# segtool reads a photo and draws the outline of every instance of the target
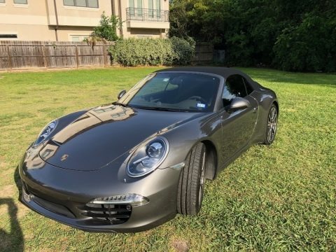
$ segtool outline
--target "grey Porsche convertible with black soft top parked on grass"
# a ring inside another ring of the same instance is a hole
[[[19,165],[22,202],[96,232],[138,232],[197,214],[251,144],[272,144],[276,94],[236,69],[155,71],[118,102],[49,123]]]

